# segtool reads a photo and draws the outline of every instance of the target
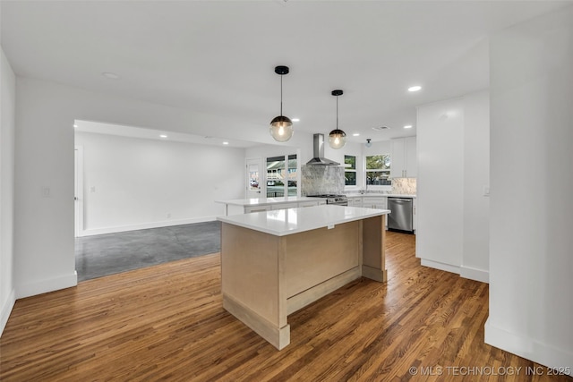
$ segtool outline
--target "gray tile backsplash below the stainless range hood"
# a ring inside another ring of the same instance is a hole
[[[301,167],[301,195],[344,194],[344,167],[312,166]]]

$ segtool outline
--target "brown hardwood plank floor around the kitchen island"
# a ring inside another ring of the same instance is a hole
[[[413,235],[386,237],[388,283],[290,315],[280,352],[223,310],[212,254],[17,301],[0,380],[573,380],[483,344],[488,285],[421,267]]]

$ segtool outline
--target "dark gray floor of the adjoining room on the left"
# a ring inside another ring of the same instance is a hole
[[[215,221],[78,237],[78,281],[218,252],[220,233]]]

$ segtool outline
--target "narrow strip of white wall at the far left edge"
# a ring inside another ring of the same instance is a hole
[[[0,335],[15,301],[13,278],[14,130],[16,77],[0,50]]]

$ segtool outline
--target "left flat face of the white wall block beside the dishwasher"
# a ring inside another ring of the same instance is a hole
[[[417,111],[416,257],[459,273],[464,250],[464,101],[449,99]]]

